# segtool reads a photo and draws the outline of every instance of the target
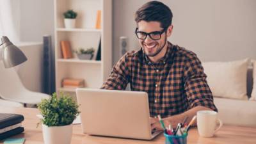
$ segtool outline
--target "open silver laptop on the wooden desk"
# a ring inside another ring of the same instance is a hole
[[[146,92],[76,89],[83,133],[152,140]]]

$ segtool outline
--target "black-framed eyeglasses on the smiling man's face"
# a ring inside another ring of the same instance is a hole
[[[140,40],[145,40],[149,36],[152,40],[160,40],[161,35],[166,31],[167,28],[164,28],[162,31],[153,31],[151,33],[145,33],[144,31],[138,31],[138,28],[135,29],[135,34]]]

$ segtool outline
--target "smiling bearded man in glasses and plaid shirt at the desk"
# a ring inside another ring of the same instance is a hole
[[[136,36],[141,49],[127,52],[116,63],[102,88],[148,93],[152,129],[164,124],[175,127],[200,110],[217,111],[204,69],[196,54],[167,41],[172,34],[172,11],[158,1],[144,4],[136,12]]]

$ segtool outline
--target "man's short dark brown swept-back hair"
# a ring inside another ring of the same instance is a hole
[[[159,1],[150,1],[145,3],[135,13],[135,21],[140,22],[157,21],[160,22],[161,28],[168,28],[172,24],[172,11],[168,6]]]

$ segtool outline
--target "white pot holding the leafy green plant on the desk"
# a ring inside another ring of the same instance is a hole
[[[70,144],[72,138],[72,124],[48,127],[42,124],[45,144]]]

